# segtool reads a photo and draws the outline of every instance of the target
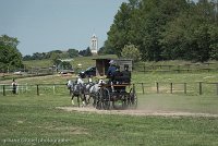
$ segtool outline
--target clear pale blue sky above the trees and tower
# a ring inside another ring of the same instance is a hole
[[[128,0],[0,0],[0,35],[16,37],[23,56],[84,50],[94,34],[100,48],[122,2]]]

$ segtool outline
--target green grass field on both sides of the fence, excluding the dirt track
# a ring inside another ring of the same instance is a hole
[[[197,83],[217,82],[216,73],[192,74],[133,74],[133,82]],[[72,76],[20,78],[19,84],[64,84]],[[3,81],[2,84],[10,84]],[[137,86],[140,90],[141,86]],[[35,86],[34,86],[35,88]],[[197,88],[197,86],[195,86]],[[208,86],[206,89],[211,90]],[[52,88],[2,96],[0,94],[0,145],[63,145],[63,146],[217,146],[218,96],[216,94],[155,94],[138,96],[138,110],[148,113],[207,113],[196,115],[130,115],[95,112],[64,111],[57,107],[71,107],[65,87],[57,94]],[[145,89],[152,89],[146,87]],[[194,90],[194,86],[191,87]],[[206,90],[204,90],[206,92]],[[210,114],[213,114],[210,117]],[[214,117],[215,115],[215,117]]]

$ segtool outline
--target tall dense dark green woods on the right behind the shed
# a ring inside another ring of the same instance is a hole
[[[215,0],[129,0],[114,16],[101,52],[135,46],[143,61],[218,60]]]

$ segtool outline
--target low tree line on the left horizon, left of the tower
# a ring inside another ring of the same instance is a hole
[[[85,50],[68,49],[66,51],[62,50],[52,50],[49,52],[35,52],[33,56],[24,56],[16,48],[19,45],[19,39],[15,37],[10,37],[8,35],[0,36],[0,72],[11,72],[16,70],[23,70],[23,61],[27,60],[43,60],[50,59],[51,63],[56,68],[60,69],[72,69],[70,62],[61,61],[61,59],[75,58],[78,56],[88,57],[93,56],[89,47]]]

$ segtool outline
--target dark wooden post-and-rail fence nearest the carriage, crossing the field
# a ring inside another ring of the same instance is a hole
[[[133,83],[136,93],[141,94],[183,94],[183,95],[218,95],[218,83]],[[69,93],[65,84],[23,84],[19,85],[17,94],[47,95]],[[11,85],[0,85],[0,96],[12,94]]]

